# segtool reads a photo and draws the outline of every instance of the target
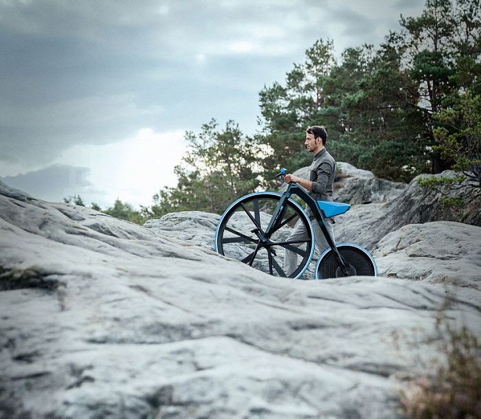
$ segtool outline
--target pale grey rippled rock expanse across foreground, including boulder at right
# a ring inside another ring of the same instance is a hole
[[[0,417],[396,418],[447,294],[481,335],[481,227],[379,240],[396,278],[294,281],[214,253],[212,214],[140,227],[2,183],[0,214]]]

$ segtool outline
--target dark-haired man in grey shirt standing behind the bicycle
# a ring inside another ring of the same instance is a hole
[[[306,141],[304,144],[306,148],[313,153],[314,159],[311,164],[309,172],[309,180],[302,179],[300,177],[294,176],[293,174],[286,174],[284,181],[287,183],[294,182],[301,185],[303,188],[308,190],[315,199],[315,201],[333,201],[333,183],[335,177],[336,163],[333,157],[326,150],[327,141],[327,131],[324,126],[310,126],[306,129]],[[309,217],[313,217],[311,208],[306,207],[307,214]],[[314,233],[315,233],[315,243],[319,251],[324,251],[329,245],[322,234],[321,227],[319,223],[314,221],[313,223]],[[334,238],[333,234],[333,220],[326,219],[326,228],[328,229],[331,237]],[[302,240],[306,238],[306,229],[304,225],[299,224],[295,227],[290,240]],[[284,256],[284,272],[287,276],[291,275],[295,268],[297,267],[297,253],[287,250]]]

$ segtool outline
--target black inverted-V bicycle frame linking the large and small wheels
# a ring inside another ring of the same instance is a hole
[[[271,221],[269,222],[269,225],[267,226],[267,229],[265,230],[265,237],[270,238],[271,234],[273,231],[275,231],[275,228],[278,224],[278,220],[282,220],[284,217],[284,213],[286,211],[286,201],[291,197],[292,194],[295,194],[300,197],[309,207],[311,208],[311,211],[313,213],[313,216],[317,223],[319,224],[319,227],[321,228],[322,234],[324,234],[324,237],[326,238],[326,241],[333,249],[335,253],[335,258],[337,260],[337,263],[339,263],[339,267],[344,271],[344,273],[347,275],[348,273],[348,264],[344,261],[344,258],[342,258],[341,254],[337,250],[337,247],[335,245],[334,239],[332,238],[331,234],[329,233],[329,230],[326,227],[326,221],[324,216],[322,215],[322,212],[320,212],[319,207],[317,206],[317,202],[313,197],[307,192],[302,186],[297,185],[296,183],[289,183],[287,186],[287,189],[285,192],[282,194],[276,210],[273,212],[274,216],[271,218]]]

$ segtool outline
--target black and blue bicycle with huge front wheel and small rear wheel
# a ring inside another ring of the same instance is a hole
[[[276,177],[284,181],[286,173],[287,170],[282,168]],[[312,218],[320,225],[329,245],[317,261],[316,280],[351,275],[377,276],[376,262],[366,249],[347,242],[336,245],[326,228],[327,218],[344,214],[350,205],[315,201],[306,189],[296,183],[288,183],[282,194],[254,192],[234,201],[217,225],[215,251],[273,276],[300,278],[313,259],[315,234],[311,218],[301,205],[291,199],[293,194],[309,205]],[[307,236],[303,240],[289,240],[297,223],[304,224]],[[298,264],[290,275],[283,269],[285,249],[298,255]]]

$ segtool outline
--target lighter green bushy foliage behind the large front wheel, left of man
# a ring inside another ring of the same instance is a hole
[[[186,140],[189,150],[175,168],[177,187],[154,195],[153,216],[189,210],[221,214],[236,198],[256,190],[260,147],[233,121],[219,131],[211,120],[200,133],[186,133]]]

